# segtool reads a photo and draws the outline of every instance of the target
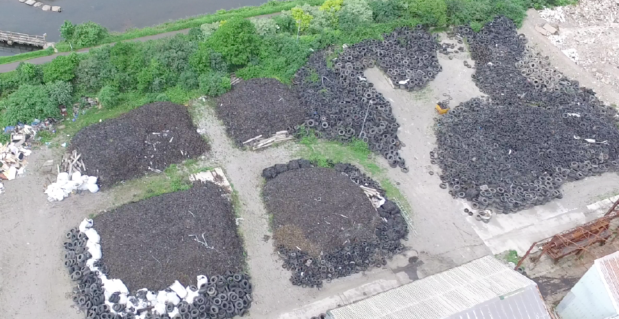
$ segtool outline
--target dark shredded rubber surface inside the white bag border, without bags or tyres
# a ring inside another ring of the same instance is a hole
[[[212,183],[120,206],[95,217],[94,229],[109,278],[121,279],[130,292],[243,270],[229,195]]]

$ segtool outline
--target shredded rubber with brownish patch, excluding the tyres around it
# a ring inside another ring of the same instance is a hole
[[[380,216],[362,189],[332,168],[298,168],[268,179],[265,205],[276,245],[314,256],[374,238]]]

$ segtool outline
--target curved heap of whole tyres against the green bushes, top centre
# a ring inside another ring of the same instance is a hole
[[[304,131],[318,137],[349,142],[363,140],[371,151],[380,153],[391,167],[407,171],[398,150],[402,143],[400,124],[389,101],[373,88],[363,72],[375,65],[391,82],[409,91],[420,89],[442,70],[436,57],[437,41],[422,29],[396,28],[384,34],[384,41],[369,39],[347,47],[327,67],[325,52],[310,56],[293,80],[305,110]]]

